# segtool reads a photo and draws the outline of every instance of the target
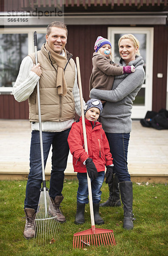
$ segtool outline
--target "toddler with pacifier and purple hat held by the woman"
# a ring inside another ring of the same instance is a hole
[[[95,52],[92,58],[92,74],[90,76],[90,90],[92,88],[111,90],[114,76],[133,73],[134,66],[119,66],[112,61],[112,45],[106,38],[98,36],[95,41]]]

